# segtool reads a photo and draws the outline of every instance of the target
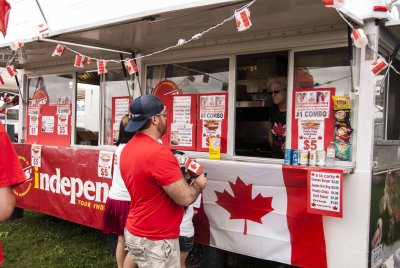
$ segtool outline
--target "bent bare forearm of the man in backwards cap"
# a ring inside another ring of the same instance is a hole
[[[202,173],[192,183],[188,185],[182,178],[174,183],[163,186],[167,194],[180,206],[187,207],[192,204],[206,187],[207,178]]]

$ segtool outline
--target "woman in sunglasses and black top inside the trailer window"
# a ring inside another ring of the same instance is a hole
[[[268,79],[267,87],[272,95],[273,105],[269,109],[270,132],[269,144],[272,148],[272,158],[284,158],[286,142],[286,77]]]

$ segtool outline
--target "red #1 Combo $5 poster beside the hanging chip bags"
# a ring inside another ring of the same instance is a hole
[[[293,90],[292,149],[326,150],[334,139],[334,88]]]

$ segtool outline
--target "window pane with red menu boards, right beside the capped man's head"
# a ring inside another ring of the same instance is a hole
[[[208,151],[211,138],[227,151],[229,59],[147,67],[146,89],[167,107],[163,142],[173,149]]]

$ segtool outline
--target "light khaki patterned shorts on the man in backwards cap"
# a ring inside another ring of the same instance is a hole
[[[125,250],[140,268],[180,268],[178,238],[150,240],[125,229]]]

